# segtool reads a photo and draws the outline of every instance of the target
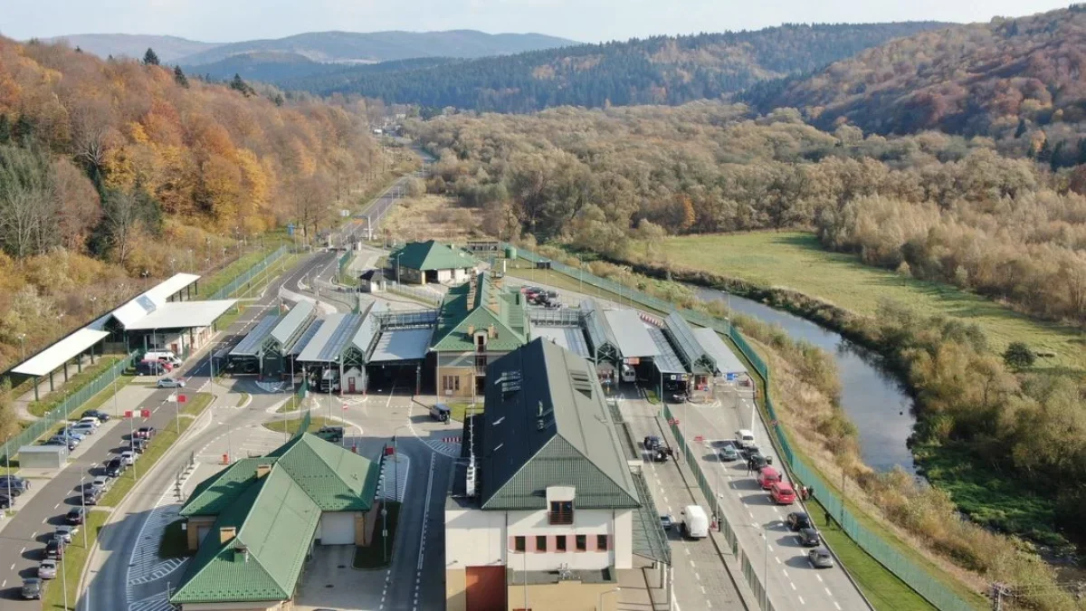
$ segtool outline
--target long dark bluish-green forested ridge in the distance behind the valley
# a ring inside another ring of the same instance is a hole
[[[784,25],[582,45],[396,73],[344,70],[281,84],[321,95],[353,92],[386,102],[497,112],[566,104],[680,104],[811,72],[892,38],[943,26]]]

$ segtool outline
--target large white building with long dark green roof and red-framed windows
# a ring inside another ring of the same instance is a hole
[[[539,338],[487,376],[445,503],[445,608],[614,610],[619,575],[670,552],[595,366]]]

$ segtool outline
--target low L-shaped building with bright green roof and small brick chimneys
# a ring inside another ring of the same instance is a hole
[[[369,545],[378,465],[304,433],[201,482],[180,509],[195,556],[182,610],[289,608],[315,543]]]

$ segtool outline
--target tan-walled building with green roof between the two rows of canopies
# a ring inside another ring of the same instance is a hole
[[[482,395],[487,365],[527,344],[529,324],[525,296],[500,275],[482,272],[449,289],[430,345],[438,394]]]

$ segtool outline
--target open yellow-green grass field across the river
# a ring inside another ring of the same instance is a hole
[[[817,237],[800,232],[682,236],[665,242],[668,262],[690,269],[788,287],[860,314],[874,314],[882,299],[908,304],[922,314],[946,314],[978,324],[1000,351],[1011,341],[1051,351],[1039,366],[1086,370],[1086,335],[1035,321],[994,301],[952,286],[917,280],[860,263],[850,254],[828,252]]]

